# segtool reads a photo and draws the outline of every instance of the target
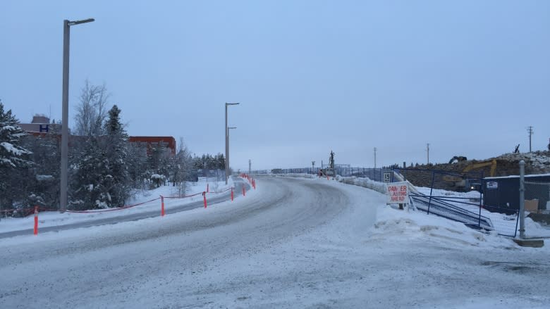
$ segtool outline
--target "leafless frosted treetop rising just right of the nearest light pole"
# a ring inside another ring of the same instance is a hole
[[[80,103],[75,116],[75,134],[97,137],[107,116],[109,93],[105,84],[95,86],[86,80],[80,93]]]

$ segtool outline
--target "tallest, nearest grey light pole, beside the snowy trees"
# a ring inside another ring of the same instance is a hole
[[[85,20],[63,20],[63,93],[61,100],[63,111],[61,113],[61,188],[59,196],[59,210],[67,209],[67,183],[68,183],[68,64],[69,64],[69,39],[71,39],[71,26],[83,23],[91,23],[94,18]]]

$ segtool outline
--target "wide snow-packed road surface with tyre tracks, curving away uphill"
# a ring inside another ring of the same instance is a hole
[[[361,187],[257,184],[206,210],[1,239],[0,308],[548,308],[547,249],[395,219]]]

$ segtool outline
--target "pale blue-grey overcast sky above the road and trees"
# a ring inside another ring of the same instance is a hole
[[[550,1],[0,2],[0,99],[22,122],[70,122],[86,79],[128,134],[185,139],[231,166],[484,159],[550,137]]]

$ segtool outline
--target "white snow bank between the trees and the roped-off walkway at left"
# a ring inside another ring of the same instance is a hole
[[[222,192],[228,188],[234,186],[233,179],[228,180],[228,184],[225,184],[225,181],[216,181],[212,178],[201,178],[198,182],[189,182],[189,186],[185,192],[185,196],[190,196],[194,194],[201,193],[207,190],[207,184],[209,192],[214,194],[215,192]],[[139,203],[144,203],[140,206],[135,206],[132,208],[124,208],[121,210],[114,211],[94,211],[90,210],[90,213],[59,213],[57,211],[47,211],[39,213],[39,229],[40,227],[53,227],[59,225],[67,225],[77,222],[86,222],[90,220],[97,220],[110,217],[120,217],[123,215],[128,215],[130,213],[145,213],[151,210],[161,211],[161,201],[151,201],[153,199],[159,198],[160,196],[178,196],[178,187],[173,187],[171,185],[161,186],[152,190],[139,191],[135,194],[133,198],[130,198],[127,205],[135,205]],[[188,198],[165,198],[164,199],[164,208],[169,210],[174,206],[181,206],[194,201],[202,201],[202,195],[192,196]],[[0,233],[1,232],[11,232],[18,231],[23,229],[32,229],[35,224],[34,216],[30,215],[28,217],[3,217],[0,220]]]

